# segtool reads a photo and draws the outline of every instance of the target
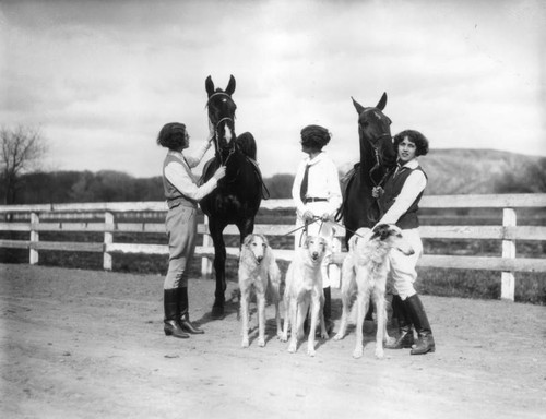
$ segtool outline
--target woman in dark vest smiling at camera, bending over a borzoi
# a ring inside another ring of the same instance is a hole
[[[427,314],[413,284],[417,278],[415,266],[423,254],[419,236],[418,204],[427,185],[427,175],[423,171],[418,156],[428,153],[428,140],[413,130],[402,131],[394,136],[394,146],[399,153],[397,166],[379,191],[380,205],[384,211],[378,224],[395,224],[403,230],[415,253],[406,256],[402,252],[390,253],[390,277],[394,287],[392,297],[393,315],[399,320],[400,336],[390,349],[412,348],[412,355],[435,351],[435,339]],[[378,193],[378,192],[376,192]],[[412,324],[418,340],[414,343]]]

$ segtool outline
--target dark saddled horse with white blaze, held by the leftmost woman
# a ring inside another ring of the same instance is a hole
[[[256,163],[256,141],[246,132],[235,135],[235,110],[232,98],[235,79],[232,75],[225,91],[214,88],[211,76],[205,81],[209,100],[209,121],[215,128],[214,158],[206,163],[203,179],[207,181],[216,169],[226,166],[226,176],[218,187],[203,200],[201,210],[209,217],[209,230],[214,243],[214,271],[216,290],[212,316],[224,315],[226,290],[226,246],[223,231],[229,224],[235,224],[240,234],[240,242],[254,229],[254,216],[262,200],[262,178]]]

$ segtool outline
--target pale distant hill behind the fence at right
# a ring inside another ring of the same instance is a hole
[[[419,157],[429,195],[546,192],[546,157],[442,148]],[[345,172],[353,164],[343,166]]]

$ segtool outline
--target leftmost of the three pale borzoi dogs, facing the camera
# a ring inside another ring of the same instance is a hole
[[[265,298],[275,304],[277,336],[281,336],[281,316],[278,313],[281,272],[263,235],[248,235],[242,242],[239,256],[240,311],[242,318],[241,346],[249,346],[248,322],[249,303],[252,290],[258,307],[258,346],[265,346]]]

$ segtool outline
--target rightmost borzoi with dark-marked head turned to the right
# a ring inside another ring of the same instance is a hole
[[[402,230],[394,225],[382,224],[373,230],[359,228],[348,242],[349,251],[342,267],[343,312],[340,331],[334,340],[343,339],[347,328],[351,302],[357,295],[356,346],[354,358],[363,356],[363,325],[368,311],[370,296],[376,304],[377,335],[376,357],[383,358],[383,342],[390,342],[387,333],[385,287],[389,271],[389,252],[401,251],[413,254],[412,246],[402,237]]]

